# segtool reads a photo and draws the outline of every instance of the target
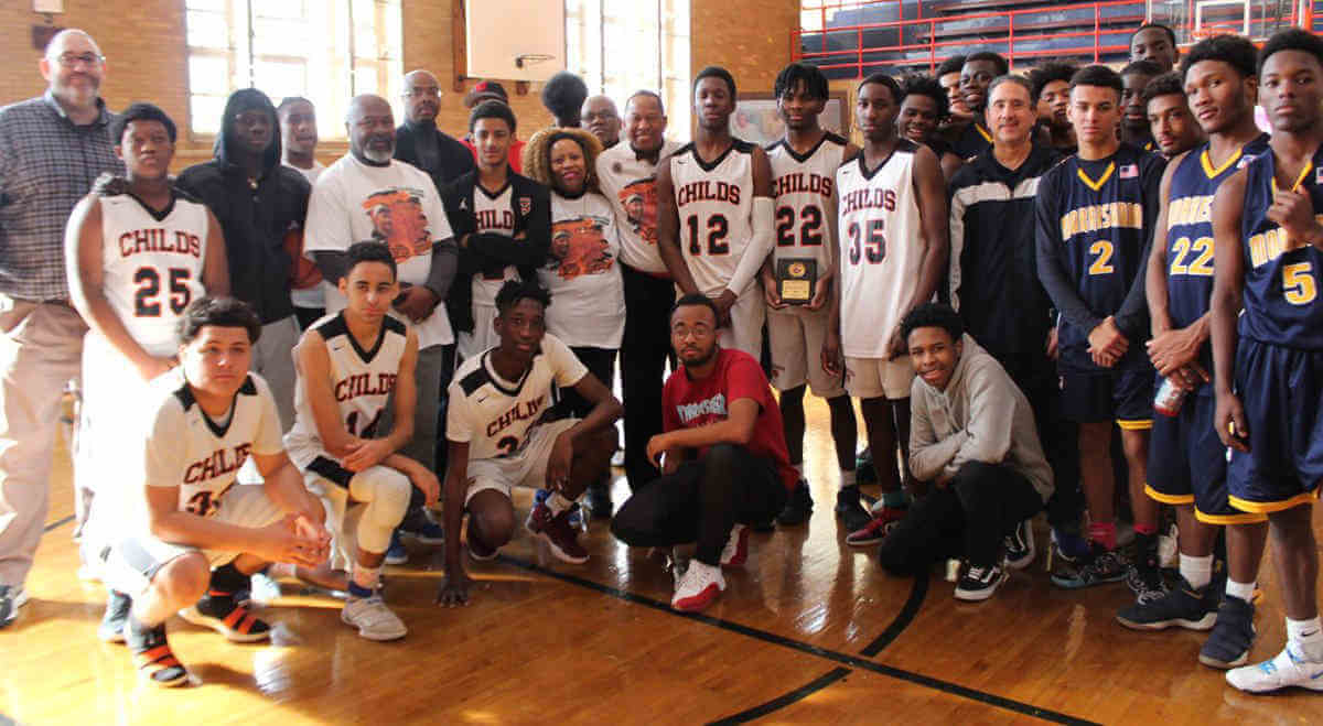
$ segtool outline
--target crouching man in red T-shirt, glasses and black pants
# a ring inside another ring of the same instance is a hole
[[[648,440],[662,477],[635,491],[611,522],[631,546],[697,542],[671,598],[684,611],[717,599],[726,588],[721,566],[744,565],[746,525],[775,517],[799,481],[762,368],[747,353],[717,345],[717,305],[705,295],[675,303],[671,345],[681,368],[662,390],[663,432]]]

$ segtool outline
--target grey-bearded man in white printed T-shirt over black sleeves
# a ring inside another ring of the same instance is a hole
[[[345,116],[349,153],[332,164],[312,192],[308,204],[307,251],[325,278],[327,312],[340,312],[345,296],[339,288],[344,276],[344,253],[355,242],[374,238],[390,247],[398,266],[401,294],[393,312],[406,317],[418,335],[418,383],[413,439],[400,450],[429,471],[435,471],[437,418],[442,374],[450,369],[455,336],[442,302],[455,278],[454,233],[441,194],[431,177],[410,164],[392,159],[394,118],[390,104],[377,95],[356,97]],[[378,221],[389,216],[389,225]],[[335,286],[335,287],[332,287]],[[386,407],[380,430],[389,431],[394,406]],[[415,496],[404,529],[421,544],[439,545],[441,528],[421,512]],[[386,553],[386,563],[400,565],[407,553],[398,540]]]

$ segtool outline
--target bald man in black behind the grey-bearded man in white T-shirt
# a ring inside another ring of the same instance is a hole
[[[426,70],[405,74],[405,123],[396,130],[396,159],[431,176],[437,189],[478,168],[464,144],[437,128],[441,83]]]

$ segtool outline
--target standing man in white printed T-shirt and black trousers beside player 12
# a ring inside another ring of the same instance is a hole
[[[680,148],[668,141],[662,97],[638,91],[624,102],[624,140],[597,157],[602,193],[624,222],[620,275],[624,279],[624,337],[620,340],[620,393],[624,395],[624,477],[638,491],[658,477],[648,462],[648,439],[662,432],[662,387],[671,339],[667,316],[675,283],[658,251],[658,165]],[[589,491],[590,500],[601,493]],[[593,510],[598,504],[593,504]]]

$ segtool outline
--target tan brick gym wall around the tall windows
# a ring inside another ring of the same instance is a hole
[[[451,54],[452,0],[409,0],[404,7],[404,67],[423,67],[439,79],[445,97],[438,123],[462,134],[468,112],[463,91],[452,89],[455,63]],[[40,50],[32,48],[33,25],[45,17],[32,12],[26,0],[0,3],[0,104],[38,95],[45,81],[37,69]],[[185,73],[183,0],[65,0],[65,12],[53,16],[56,25],[82,28],[107,57],[102,95],[112,108],[134,101],[163,107],[184,131],[176,167],[210,156],[210,143],[187,134],[188,78]],[[691,63],[697,70],[709,63],[726,66],[741,89],[770,91],[777,71],[790,60],[790,32],[798,25],[798,0],[692,0]],[[757,20],[754,20],[754,17]],[[519,136],[552,123],[532,85],[517,95],[515,83],[504,83],[519,118]],[[466,83],[466,89],[472,82]],[[321,119],[323,127],[337,123]],[[324,161],[344,152],[343,144],[319,148]]]

